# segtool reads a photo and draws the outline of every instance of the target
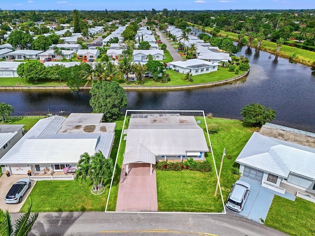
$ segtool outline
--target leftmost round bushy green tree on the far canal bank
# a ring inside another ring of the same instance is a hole
[[[16,72],[28,82],[37,82],[39,79],[46,78],[46,67],[39,60],[30,60],[19,64]]]

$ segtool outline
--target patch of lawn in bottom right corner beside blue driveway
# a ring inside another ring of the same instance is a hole
[[[275,196],[265,225],[291,236],[310,236],[315,232],[315,204],[301,198],[295,202]]]

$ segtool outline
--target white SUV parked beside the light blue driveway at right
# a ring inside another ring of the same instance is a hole
[[[232,187],[226,200],[226,207],[231,210],[241,212],[244,208],[248,195],[251,191],[251,185],[245,181],[237,180]]]

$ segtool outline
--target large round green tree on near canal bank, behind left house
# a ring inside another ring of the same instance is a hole
[[[90,90],[90,106],[95,113],[104,113],[106,121],[111,122],[122,115],[121,109],[128,104],[126,92],[118,82],[96,82]]]

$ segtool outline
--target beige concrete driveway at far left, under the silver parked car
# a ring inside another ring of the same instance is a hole
[[[20,212],[21,207],[25,203],[25,200],[28,198],[34,184],[36,183],[35,181],[31,181],[32,187],[28,189],[24,194],[22,203],[6,204],[4,202],[4,198],[8,191],[10,190],[13,183],[15,183],[20,178],[27,177],[28,175],[11,175],[10,177],[7,177],[5,174],[3,174],[0,177],[0,209],[2,209],[3,211],[8,210],[9,212]]]

